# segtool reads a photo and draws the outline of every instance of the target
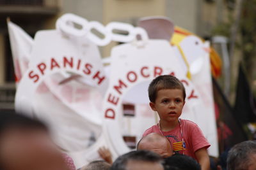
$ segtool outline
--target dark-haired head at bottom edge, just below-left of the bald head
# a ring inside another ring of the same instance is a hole
[[[163,170],[162,159],[159,155],[148,150],[138,150],[125,153],[118,157],[111,170]]]

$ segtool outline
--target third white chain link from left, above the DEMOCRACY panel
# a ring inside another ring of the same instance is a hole
[[[106,29],[109,32],[111,32],[111,37],[113,41],[127,43],[132,41],[132,39],[134,39],[134,34],[133,34],[134,27],[130,24],[125,24],[122,22],[110,22],[106,26]],[[127,31],[128,35],[115,34],[113,33],[114,30]]]

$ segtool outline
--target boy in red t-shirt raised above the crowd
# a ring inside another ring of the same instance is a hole
[[[180,119],[185,104],[186,92],[183,84],[174,76],[163,75],[155,78],[148,87],[150,107],[157,111],[160,121],[147,129],[143,136],[152,132],[169,139],[176,153],[193,157],[202,170],[210,167],[207,148],[209,143],[195,123]]]

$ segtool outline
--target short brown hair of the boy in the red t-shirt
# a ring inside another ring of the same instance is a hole
[[[156,101],[157,92],[162,89],[180,89],[183,92],[183,99],[185,101],[186,91],[182,82],[172,75],[157,76],[151,81],[148,86],[148,97],[150,102]]]

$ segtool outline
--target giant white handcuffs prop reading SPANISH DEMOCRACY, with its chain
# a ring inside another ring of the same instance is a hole
[[[126,31],[127,35],[114,31]],[[105,72],[97,45],[110,41],[124,44],[113,48],[109,72]],[[73,14],[60,17],[56,30],[38,31],[32,47],[29,67],[17,88],[15,109],[47,122],[56,143],[77,167],[99,159],[100,146],[107,146],[114,158],[128,152],[145,129],[159,121],[148,106],[147,87],[161,74],[174,74],[182,80],[187,93],[182,118],[201,127],[214,148],[210,155],[218,155],[215,119],[209,115],[211,108],[207,110],[212,101],[204,106],[205,94],[198,89],[206,82],[200,67],[204,67],[203,74],[210,75],[209,64],[205,66],[209,55],[193,59],[190,71],[202,78],[191,81],[186,78],[184,60],[168,41],[148,39],[141,27],[120,22],[104,26]],[[20,48],[13,48],[19,52]],[[189,63],[191,60],[189,57]]]

